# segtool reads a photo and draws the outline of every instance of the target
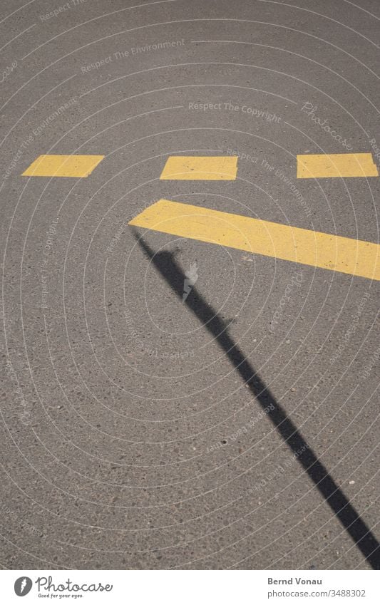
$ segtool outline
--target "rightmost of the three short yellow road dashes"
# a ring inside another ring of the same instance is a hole
[[[371,153],[297,155],[297,179],[378,176]]]

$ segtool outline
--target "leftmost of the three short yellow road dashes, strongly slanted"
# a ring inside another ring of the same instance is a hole
[[[76,177],[91,175],[104,155],[40,155],[23,177]]]

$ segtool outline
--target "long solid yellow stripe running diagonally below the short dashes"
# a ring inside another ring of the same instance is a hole
[[[380,245],[238,214],[160,200],[131,225],[252,254],[380,280]]]

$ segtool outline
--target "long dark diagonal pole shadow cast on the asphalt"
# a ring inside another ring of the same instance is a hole
[[[158,252],[155,254],[135,229],[133,227],[131,229],[146,256],[153,262],[155,268],[158,269],[158,272],[168,282],[175,294],[182,299],[185,274],[177,262],[175,262],[173,254],[171,252]],[[302,433],[297,430],[281,405],[277,403],[274,395],[269,391],[262,378],[255,372],[250,362],[247,361],[240,348],[235,345],[227,333],[225,323],[194,288],[186,299],[185,304],[202,321],[202,324],[204,324],[212,336],[214,336],[220,348],[225,351],[227,358],[229,358],[236,371],[240,373],[240,376],[247,386],[249,386],[250,391],[255,395],[262,408],[268,409],[269,407],[267,417],[270,418],[274,427],[294,455],[297,455],[297,460],[304,467],[310,479],[314,482],[334,514],[337,515],[344,529],[346,529],[356,546],[364,554],[371,567],[373,569],[380,569],[380,545],[374,534],[372,534],[369,527],[359,517],[359,514],[344,495],[344,492],[342,492],[331,475],[329,475],[329,472],[327,472],[326,467],[318,460],[313,450],[309,448]]]

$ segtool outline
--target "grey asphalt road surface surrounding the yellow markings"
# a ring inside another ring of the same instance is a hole
[[[379,178],[297,180],[297,154],[380,145],[379,9],[3,0],[3,569],[379,566],[379,282],[128,226],[166,198],[378,242]],[[106,157],[21,176],[49,153]],[[175,154],[237,180],[160,181]]]

